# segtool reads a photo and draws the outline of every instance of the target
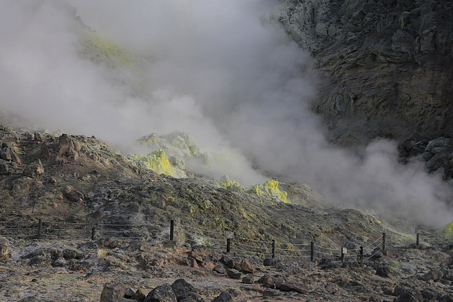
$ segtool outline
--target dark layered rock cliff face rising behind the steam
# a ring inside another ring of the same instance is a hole
[[[325,79],[332,142],[453,133],[453,1],[287,0],[279,21]]]

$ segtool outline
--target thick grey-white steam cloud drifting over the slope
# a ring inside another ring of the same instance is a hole
[[[372,142],[363,158],[328,144],[310,110],[314,64],[270,22],[276,3],[2,0],[0,110],[123,151],[142,135],[183,130],[220,158],[212,176],[262,182],[254,163],[351,206],[450,222],[450,189],[422,163],[400,165],[394,142]],[[75,15],[140,63],[88,59]]]

